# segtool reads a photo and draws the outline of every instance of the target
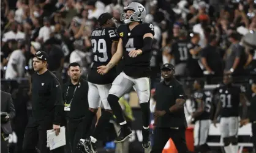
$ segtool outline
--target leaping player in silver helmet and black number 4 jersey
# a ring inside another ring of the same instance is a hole
[[[116,63],[123,57],[124,69],[114,80],[108,102],[115,114],[118,123],[121,125],[121,132],[115,143],[121,143],[132,135],[122,115],[122,109],[118,103],[119,98],[134,86],[138,94],[141,112],[143,115],[143,148],[149,148],[149,99],[150,99],[150,59],[151,47],[154,37],[154,26],[150,23],[143,23],[146,10],[138,2],[131,2],[124,7],[121,20],[125,24],[118,27],[119,43],[116,53],[106,66],[99,66],[98,73],[107,74]]]

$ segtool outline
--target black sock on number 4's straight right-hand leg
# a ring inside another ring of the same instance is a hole
[[[142,112],[142,125],[144,127],[149,126],[150,122],[150,108],[149,108],[149,102],[143,102],[140,104],[140,109]]]

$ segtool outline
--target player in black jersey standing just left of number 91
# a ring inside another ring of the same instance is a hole
[[[194,95],[192,96],[192,119],[195,121],[194,146],[195,152],[209,152],[210,148],[206,143],[208,131],[211,124],[211,96],[206,96],[203,87],[203,80],[195,80]]]

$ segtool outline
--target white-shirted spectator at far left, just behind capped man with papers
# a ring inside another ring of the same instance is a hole
[[[24,69],[26,65],[26,52],[23,40],[18,42],[18,49],[10,54],[9,62],[6,68],[6,79],[18,79],[24,77]]]

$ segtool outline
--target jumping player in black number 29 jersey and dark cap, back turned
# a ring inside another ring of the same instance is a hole
[[[116,52],[118,44],[118,34],[116,33],[116,20],[110,13],[103,13],[99,16],[100,28],[92,31],[91,44],[94,54],[94,61],[91,67],[91,71],[88,74],[88,104],[89,110],[86,115],[85,121],[85,135],[83,139],[78,143],[80,151],[94,153],[96,152],[96,141],[99,138],[99,134],[104,130],[104,126],[111,118],[112,111],[108,104],[108,91],[111,88],[111,83],[116,77],[115,69],[111,69],[106,75],[102,76],[97,73],[97,67],[100,65],[107,65],[113,54]],[[97,109],[100,107],[100,101],[104,105],[105,111],[102,112],[97,126],[91,135],[91,139],[88,140],[86,135],[91,127],[92,120],[96,116]],[[88,149],[89,147],[89,149]]]

